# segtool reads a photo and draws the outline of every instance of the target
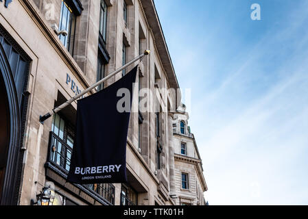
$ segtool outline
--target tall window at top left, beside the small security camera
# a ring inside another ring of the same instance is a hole
[[[60,14],[60,24],[59,24],[59,31],[66,30],[68,35],[63,36],[60,34],[59,38],[64,45],[65,48],[73,55],[73,47],[74,47],[74,40],[75,40],[75,23],[76,17],[73,14],[73,11],[65,1],[62,1],[61,5],[61,14]]]

